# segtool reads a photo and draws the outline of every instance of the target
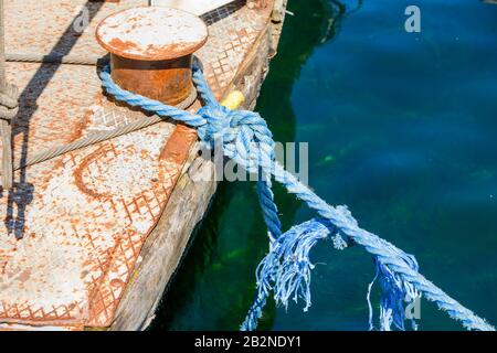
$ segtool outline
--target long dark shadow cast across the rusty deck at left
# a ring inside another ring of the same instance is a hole
[[[103,2],[92,2],[87,1],[85,3],[86,9],[88,9],[89,21],[96,15],[96,13],[102,8]],[[52,47],[50,53],[46,55],[52,56],[64,56],[67,55],[73,46],[76,44],[80,34],[74,30],[74,23],[80,21],[82,13],[78,13],[73,22],[67,26],[62,36],[59,39],[57,43]],[[43,21],[43,19],[40,19]],[[77,22],[80,24],[80,22]],[[25,164],[28,159],[28,146],[29,146],[29,135],[30,135],[30,121],[31,118],[38,109],[36,100],[45,89],[46,85],[55,75],[56,71],[61,66],[60,63],[43,63],[40,68],[33,75],[29,84],[25,86],[20,96],[20,109],[18,117],[15,117],[12,136],[22,135],[21,141],[21,165]],[[20,171],[19,180],[13,181],[13,188],[9,191],[7,201],[7,215],[4,223],[9,234],[14,234],[14,236],[20,239],[24,236],[24,223],[25,223],[25,208],[33,201],[34,186],[28,182],[28,175],[25,168]],[[17,206],[17,214],[14,211]]]

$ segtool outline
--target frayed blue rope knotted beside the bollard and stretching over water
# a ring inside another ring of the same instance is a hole
[[[204,103],[197,114],[121,89],[113,82],[109,67],[102,71],[101,78],[105,90],[115,99],[197,128],[202,143],[210,148],[221,143],[223,153],[228,158],[233,159],[246,171],[263,176],[257,182],[257,193],[264,221],[267,224],[271,246],[269,253],[257,267],[257,292],[241,327],[242,330],[256,329],[272,291],[278,304],[286,307],[290,299],[294,301],[303,299],[306,302],[304,310],[310,307],[309,285],[314,265],[309,260],[309,252],[318,240],[329,238],[336,248],[341,249],[347,244],[355,243],[373,255],[377,267],[374,280],[380,281],[382,289],[379,320],[381,330],[390,330],[392,324],[403,330],[404,304],[412,303],[424,296],[435,302],[441,310],[446,311],[451,318],[461,321],[466,329],[495,331],[493,325],[424,278],[419,272],[417,263],[412,255],[402,252],[376,234],[360,228],[346,206],[329,205],[278,164],[274,156],[273,136],[266,121],[256,113],[229,110],[221,106],[197,65],[193,67],[192,79]],[[282,234],[272,191],[272,178],[315,210],[319,218],[294,226]],[[369,304],[374,280],[368,290]],[[371,304],[370,308],[370,328],[373,329]],[[415,327],[415,323],[413,324]]]

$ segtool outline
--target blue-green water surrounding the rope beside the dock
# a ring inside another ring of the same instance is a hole
[[[421,9],[422,32],[404,31]],[[309,182],[497,323],[497,6],[477,0],[290,0],[257,110],[309,142]],[[276,188],[286,227],[311,213]],[[254,184],[222,183],[152,330],[236,330],[267,250]],[[313,307],[269,302],[261,329],[367,330],[371,257],[313,250]],[[378,291],[374,303],[378,304]],[[426,301],[421,329],[461,327]]]

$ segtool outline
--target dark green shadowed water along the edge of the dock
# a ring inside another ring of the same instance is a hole
[[[278,54],[271,64],[257,108],[275,139],[294,141],[296,118],[290,94],[314,49],[334,38],[346,13],[338,1],[290,1]],[[283,227],[300,203],[276,185]],[[195,232],[177,276],[162,297],[150,330],[237,330],[255,293],[255,268],[267,252],[267,236],[253,183],[223,182]],[[271,329],[269,301],[260,329]]]

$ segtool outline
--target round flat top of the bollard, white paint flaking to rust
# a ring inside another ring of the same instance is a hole
[[[98,25],[96,38],[112,54],[162,61],[195,52],[205,43],[208,29],[201,19],[186,11],[140,7],[106,18]]]

